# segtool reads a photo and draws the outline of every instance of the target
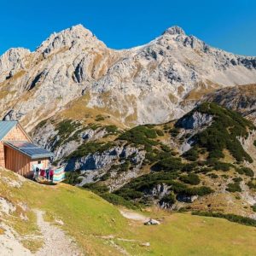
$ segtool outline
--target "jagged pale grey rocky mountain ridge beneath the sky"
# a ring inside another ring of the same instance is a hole
[[[149,44],[109,49],[83,26],[52,34],[34,52],[0,57],[2,118],[26,129],[86,96],[126,125],[161,123],[224,85],[256,80],[256,58],[214,49],[173,26]]]

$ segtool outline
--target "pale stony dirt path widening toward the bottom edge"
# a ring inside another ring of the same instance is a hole
[[[36,256],[77,256],[83,255],[75,243],[65,235],[64,231],[44,221],[44,212],[35,211],[38,217],[38,228],[41,230],[44,246]]]

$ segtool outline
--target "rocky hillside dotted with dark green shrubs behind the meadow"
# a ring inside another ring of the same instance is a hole
[[[205,102],[181,119],[125,129],[76,103],[32,134],[55,151],[55,164],[67,163],[67,183],[125,207],[255,217],[256,132],[239,113]]]

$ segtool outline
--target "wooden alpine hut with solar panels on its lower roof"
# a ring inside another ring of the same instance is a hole
[[[33,168],[47,168],[53,155],[35,145],[18,121],[0,121],[0,166],[31,177]]]

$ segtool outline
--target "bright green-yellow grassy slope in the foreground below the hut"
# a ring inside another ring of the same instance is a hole
[[[24,236],[24,245],[37,250],[36,218],[32,209],[45,212],[52,223],[61,219],[62,229],[75,238],[90,255],[253,255],[256,253],[256,229],[230,223],[220,218],[145,212],[159,218],[161,224],[145,226],[129,220],[119,209],[84,189],[59,184],[44,186],[20,179],[13,172],[1,170],[0,193],[16,206],[15,212],[3,214],[1,221]],[[23,207],[19,207],[19,206]],[[26,207],[24,207],[26,206]],[[28,220],[21,220],[20,214]],[[29,236],[28,236],[29,235]],[[143,246],[149,242],[150,246]]]

